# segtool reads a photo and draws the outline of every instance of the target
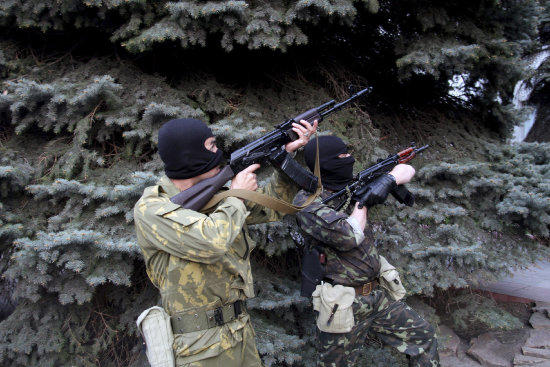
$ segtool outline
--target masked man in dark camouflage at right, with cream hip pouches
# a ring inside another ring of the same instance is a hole
[[[350,210],[336,211],[339,202],[334,201],[339,199],[322,200],[350,183],[355,160],[340,138],[322,136],[318,141],[323,193],[296,214],[306,241],[302,295],[312,295],[318,311],[317,365],[357,365],[368,334],[406,353],[409,366],[439,366],[433,327],[400,300],[405,290],[399,274],[377,254],[367,227],[367,207],[383,203],[396,185],[408,183],[414,168],[397,165],[354,196]],[[311,170],[316,146],[312,140],[304,150]],[[294,204],[304,203],[307,196],[300,191]]]

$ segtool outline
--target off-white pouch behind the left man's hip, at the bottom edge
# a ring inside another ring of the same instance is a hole
[[[136,323],[145,340],[145,354],[151,367],[174,367],[174,334],[170,316],[164,308],[148,308],[139,315]]]

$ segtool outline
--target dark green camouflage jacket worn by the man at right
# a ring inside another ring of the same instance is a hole
[[[303,204],[308,195],[301,190],[294,204]],[[360,230],[354,231],[347,213],[337,212],[322,203],[329,195],[323,191],[311,205],[296,214],[307,245],[319,247],[326,254],[325,278],[346,286],[358,286],[377,278],[380,260],[372,231],[367,227],[363,236],[358,235]]]

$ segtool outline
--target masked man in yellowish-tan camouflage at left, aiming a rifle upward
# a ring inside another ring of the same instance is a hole
[[[294,152],[315,132],[306,121],[294,124]],[[138,244],[147,274],[160,290],[171,316],[177,366],[261,366],[245,301],[254,297],[250,252],[254,242],[246,224],[280,219],[253,203],[228,197],[208,214],[184,209],[170,198],[216,175],[222,152],[210,128],[195,119],[178,119],[159,130],[158,149],[165,175],[145,189],[134,207]],[[253,164],[232,180],[232,189],[256,190]],[[296,190],[274,174],[265,194],[292,200]]]

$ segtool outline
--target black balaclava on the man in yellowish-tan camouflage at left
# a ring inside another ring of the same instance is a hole
[[[221,149],[206,149],[204,142],[214,136],[204,122],[196,119],[170,120],[159,129],[158,150],[169,178],[198,176],[219,165]]]

